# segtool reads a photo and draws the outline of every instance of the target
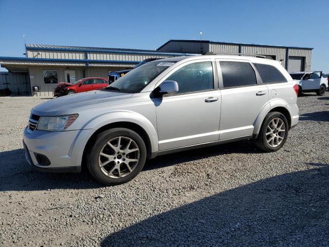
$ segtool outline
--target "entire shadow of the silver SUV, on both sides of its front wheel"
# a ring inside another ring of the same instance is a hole
[[[143,171],[159,169],[184,162],[229,153],[259,153],[249,140],[194,149],[156,157],[147,161]],[[25,161],[24,149],[0,152],[0,191],[30,191],[47,189],[90,189],[104,187],[88,172],[44,173],[33,169]]]

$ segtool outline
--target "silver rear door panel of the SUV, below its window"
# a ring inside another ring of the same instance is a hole
[[[267,86],[222,89],[221,93],[220,139],[252,135],[253,124],[269,99]]]

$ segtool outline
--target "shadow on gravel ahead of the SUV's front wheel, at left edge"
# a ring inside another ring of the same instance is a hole
[[[90,189],[104,187],[87,172],[44,173],[25,161],[24,149],[0,152],[0,191]]]

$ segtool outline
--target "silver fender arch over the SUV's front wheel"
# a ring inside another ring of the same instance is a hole
[[[82,129],[93,129],[97,131],[101,127],[115,122],[132,122],[139,125],[149,135],[152,153],[158,151],[158,135],[155,127],[148,118],[133,111],[113,110],[97,115],[87,121]]]

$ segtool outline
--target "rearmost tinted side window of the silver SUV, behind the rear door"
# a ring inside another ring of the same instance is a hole
[[[287,79],[275,66],[262,63],[254,63],[253,65],[255,65],[256,69],[258,70],[263,83],[287,82]]]

